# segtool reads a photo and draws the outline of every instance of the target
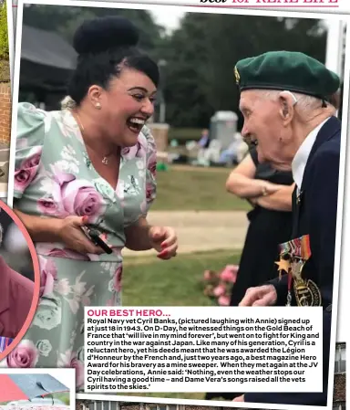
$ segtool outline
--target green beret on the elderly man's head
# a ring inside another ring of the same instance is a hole
[[[244,58],[234,68],[240,90],[281,89],[311,95],[321,100],[339,89],[339,77],[324,64],[303,53],[270,51]]]

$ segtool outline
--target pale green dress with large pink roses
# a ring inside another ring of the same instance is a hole
[[[111,255],[79,254],[63,243],[36,243],[41,283],[36,315],[8,367],[74,367],[84,390],[84,307],[121,303],[124,228],[146,216],[156,195],[156,148],[149,129],[121,150],[113,189],[88,158],[69,110],[18,106],[14,207],[31,216],[88,216]],[[5,362],[5,363],[4,363]]]

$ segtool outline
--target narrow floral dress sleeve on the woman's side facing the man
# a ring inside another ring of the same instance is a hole
[[[148,127],[143,127],[142,133],[147,140],[147,157],[146,157],[146,214],[149,212],[150,205],[156,199],[157,182],[157,148],[154,138]]]

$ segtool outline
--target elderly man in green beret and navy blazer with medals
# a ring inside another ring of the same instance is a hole
[[[243,59],[235,76],[243,138],[257,145],[260,162],[292,169],[295,182],[293,234],[277,262],[282,278],[248,289],[240,306],[322,306],[324,315],[322,393],[247,393],[235,401],[326,405],[341,131],[328,101],[339,79],[314,58],[286,51]]]

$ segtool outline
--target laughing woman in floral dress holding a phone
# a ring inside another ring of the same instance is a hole
[[[77,68],[60,111],[19,104],[16,214],[36,242],[40,301],[10,367],[75,367],[84,388],[84,306],[121,303],[121,249],[176,255],[168,226],[149,226],[156,194],[156,148],[145,122],[153,113],[157,65],[136,47],[138,31],[105,17],[77,29]],[[98,229],[113,252],[94,245]]]

